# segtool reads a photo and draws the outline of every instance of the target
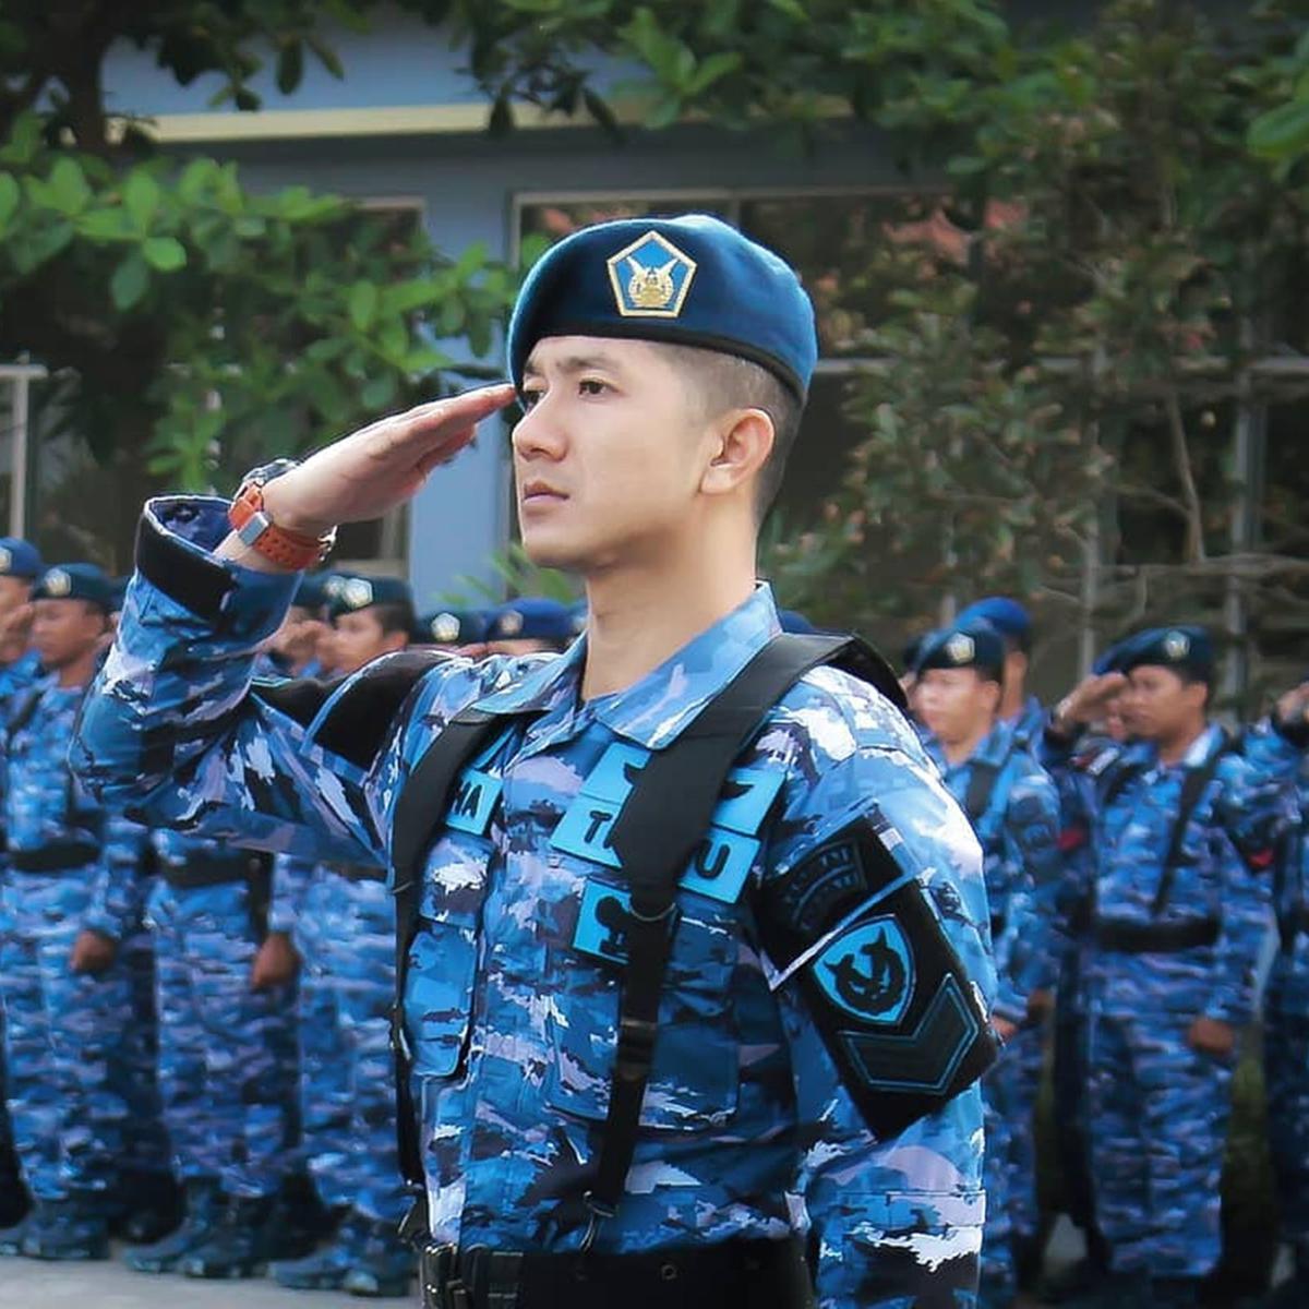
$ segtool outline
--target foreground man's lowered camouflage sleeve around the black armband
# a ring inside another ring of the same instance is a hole
[[[838,674],[810,674],[804,689]],[[780,839],[770,850],[764,890],[798,886],[806,903],[840,877],[840,843],[876,821],[902,876],[916,885],[962,961],[983,1007],[995,992],[980,851],[962,810],[907,725],[863,689],[844,703],[816,698],[796,707],[788,734],[789,775]],[[789,702],[788,702],[789,703]],[[804,729],[801,730],[801,724]],[[825,874],[826,876],[826,874]],[[857,912],[856,912],[857,916]],[[819,932],[808,958],[821,969],[842,923]],[[923,1270],[980,1246],[982,1119],[977,1085],[902,1132],[880,1139],[861,1115],[848,1069],[822,1038],[798,971],[775,978],[791,1042],[801,1139],[797,1190],[817,1236],[821,1309],[872,1302],[885,1262]]]

